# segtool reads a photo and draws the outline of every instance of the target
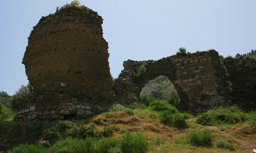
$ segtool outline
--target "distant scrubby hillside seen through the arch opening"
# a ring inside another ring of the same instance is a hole
[[[151,95],[154,98],[168,100],[171,97],[172,91],[176,91],[174,85],[166,76],[158,76],[142,88],[140,95]],[[177,92],[177,91],[176,91]]]

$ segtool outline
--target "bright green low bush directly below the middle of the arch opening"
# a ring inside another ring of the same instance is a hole
[[[170,104],[167,104],[165,101],[156,99],[154,101],[151,101],[148,106],[153,111],[165,111],[168,110],[171,113],[179,113],[178,109],[171,106]]]

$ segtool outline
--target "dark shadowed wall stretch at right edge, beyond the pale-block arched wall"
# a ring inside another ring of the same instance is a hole
[[[244,109],[256,108],[256,61],[249,57],[221,59],[230,84],[232,103]]]

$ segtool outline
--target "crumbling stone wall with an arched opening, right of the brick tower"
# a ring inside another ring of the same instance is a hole
[[[146,71],[136,76],[142,64]],[[231,103],[226,71],[215,50],[173,55],[158,61],[125,61],[124,70],[113,86],[117,102],[129,104],[138,101],[144,85],[160,75],[167,76],[174,84],[182,110],[202,112],[212,106]]]

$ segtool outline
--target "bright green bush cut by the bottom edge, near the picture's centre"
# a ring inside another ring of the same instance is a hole
[[[120,141],[122,153],[146,153],[148,141],[142,134],[132,135],[127,132]]]

